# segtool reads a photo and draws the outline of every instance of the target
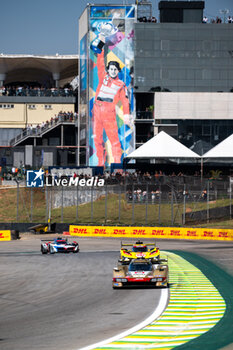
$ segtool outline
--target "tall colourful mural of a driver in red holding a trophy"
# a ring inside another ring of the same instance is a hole
[[[134,150],[135,6],[90,7],[89,165],[122,163]]]

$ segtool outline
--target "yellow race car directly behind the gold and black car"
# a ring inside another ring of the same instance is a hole
[[[156,263],[160,259],[160,250],[154,243],[144,244],[141,241],[136,243],[122,243],[119,262],[129,264],[132,259],[144,258]]]

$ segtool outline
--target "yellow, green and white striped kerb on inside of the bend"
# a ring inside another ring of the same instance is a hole
[[[84,349],[170,350],[199,337],[218,323],[226,309],[218,290],[187,260],[165,253],[170,269],[170,301],[163,314],[130,335]]]

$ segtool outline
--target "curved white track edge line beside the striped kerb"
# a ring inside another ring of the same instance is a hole
[[[139,323],[136,326],[128,329],[127,331],[124,331],[124,332],[122,332],[122,333],[120,333],[118,335],[113,336],[112,338],[103,340],[103,341],[101,341],[99,343],[96,343],[96,344],[92,344],[92,345],[86,346],[86,347],[81,348],[81,349],[77,348],[77,350],[91,350],[91,349],[95,349],[95,348],[101,347],[101,346],[106,345],[108,343],[111,343],[113,341],[119,340],[120,338],[124,338],[124,337],[126,337],[126,336],[128,336],[128,335],[130,335],[130,334],[132,334],[134,332],[137,332],[140,329],[146,327],[148,324],[154,322],[163,313],[163,311],[165,310],[165,308],[167,306],[168,297],[169,297],[168,291],[169,291],[169,288],[165,288],[165,289],[161,290],[161,297],[159,299],[158,306],[156,307],[154,312],[148,318],[146,318],[144,321],[142,321],[141,323]]]

